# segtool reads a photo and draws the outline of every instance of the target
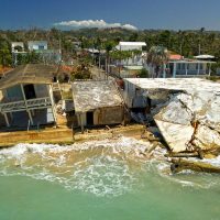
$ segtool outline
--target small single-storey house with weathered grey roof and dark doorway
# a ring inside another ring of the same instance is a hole
[[[124,120],[123,100],[112,81],[75,81],[73,97],[78,125],[120,124]]]

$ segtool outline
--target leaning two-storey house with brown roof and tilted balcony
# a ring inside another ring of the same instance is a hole
[[[28,127],[56,123],[53,76],[48,65],[20,66],[0,79],[1,127]]]

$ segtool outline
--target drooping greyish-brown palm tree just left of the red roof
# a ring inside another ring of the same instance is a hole
[[[165,66],[168,62],[169,53],[166,47],[164,46],[152,46],[148,54],[146,62],[147,64],[152,65],[154,68],[154,73],[156,74],[156,78],[158,77],[160,69],[163,68],[163,76],[165,77]],[[154,74],[153,74],[154,77]]]

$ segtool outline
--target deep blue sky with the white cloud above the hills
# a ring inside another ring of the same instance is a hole
[[[220,0],[0,0],[0,29],[220,31]]]

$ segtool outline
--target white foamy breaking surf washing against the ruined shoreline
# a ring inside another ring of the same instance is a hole
[[[151,143],[130,138],[92,141],[73,145],[18,144],[0,151],[1,176],[29,176],[61,184],[68,190],[80,190],[100,197],[120,196],[146,187],[147,176],[156,176],[188,187],[208,188],[205,174],[185,172],[172,175],[165,161],[165,150],[157,148],[154,156],[144,153]],[[210,163],[219,163],[220,157]]]

